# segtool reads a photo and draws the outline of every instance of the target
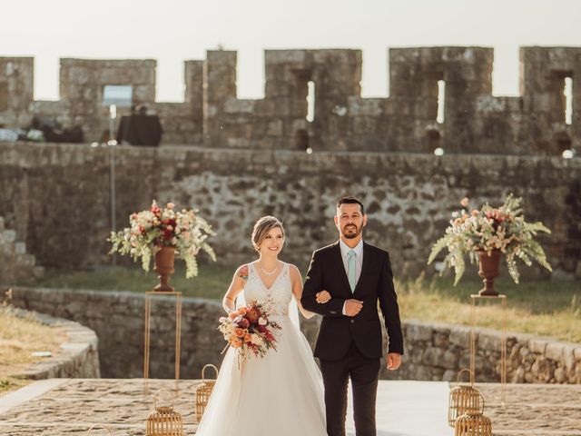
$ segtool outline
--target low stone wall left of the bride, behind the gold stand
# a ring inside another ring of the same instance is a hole
[[[61,291],[13,288],[13,304],[48,313],[94,330],[99,338],[104,378],[143,377],[143,293]],[[224,348],[216,330],[222,305],[184,298],[182,305],[181,375],[198,379],[203,365],[222,362]],[[175,299],[155,297],[152,303],[150,377],[172,378],[175,357]]]

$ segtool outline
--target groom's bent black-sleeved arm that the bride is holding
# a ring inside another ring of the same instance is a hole
[[[343,316],[342,298],[331,298],[328,302],[317,302],[317,292],[323,291],[323,270],[320,261],[320,253],[312,253],[310,259],[309,271],[302,288],[302,297],[300,303],[302,307],[310,312],[319,313],[323,316]]]

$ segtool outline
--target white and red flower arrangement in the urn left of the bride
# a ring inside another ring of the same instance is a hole
[[[133,261],[142,258],[143,270],[149,271],[152,255],[162,247],[175,247],[175,255],[185,261],[187,278],[198,275],[196,255],[203,250],[213,261],[216,256],[206,242],[214,235],[212,227],[197,211],[175,211],[173,203],[161,208],[153,200],[152,207],[129,217],[130,227],[115,233],[107,241],[113,243],[110,253],[130,254]]]

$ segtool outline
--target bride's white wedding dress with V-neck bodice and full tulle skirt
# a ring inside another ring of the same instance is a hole
[[[249,265],[244,298],[261,302],[271,321],[281,325],[277,349],[263,358],[251,355],[240,368],[236,350],[226,352],[196,436],[327,434],[320,370],[309,342],[289,316],[289,267],[284,263],[268,289]]]

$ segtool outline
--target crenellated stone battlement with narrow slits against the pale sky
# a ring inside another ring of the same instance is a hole
[[[236,97],[237,53],[185,61],[184,103],[155,102],[154,60],[62,59],[58,102],[34,101],[34,59],[0,58],[0,124],[36,115],[107,131],[106,84],[133,85],[162,120],[164,144],[259,149],[560,154],[581,148],[581,47],[521,47],[518,97],[492,95],[488,47],[389,49],[389,97],[360,95],[361,51],[265,51],[265,96]],[[564,94],[566,80],[572,93]],[[314,114],[307,120],[309,89]],[[439,96],[439,98],[438,98]],[[439,102],[439,103],[438,103]],[[566,104],[572,107],[566,120]]]

